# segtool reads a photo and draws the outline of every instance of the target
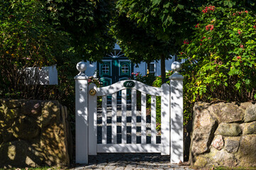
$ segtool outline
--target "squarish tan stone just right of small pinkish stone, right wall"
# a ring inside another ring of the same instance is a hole
[[[225,150],[228,153],[238,152],[240,137],[225,137]]]

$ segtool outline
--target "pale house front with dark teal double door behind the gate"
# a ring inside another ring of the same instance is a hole
[[[177,61],[176,56],[166,60],[166,72],[171,70],[171,63],[175,61]],[[184,61],[181,60],[179,62]],[[146,75],[147,72],[155,74],[155,76],[161,75],[161,60],[154,60],[149,64],[146,64],[146,62],[134,64],[124,56],[124,53],[117,44],[114,45],[113,51],[103,58],[102,62],[87,62],[86,64],[87,69],[85,73],[87,76],[99,78],[103,86],[129,79],[132,77],[132,72],[139,72],[142,76]]]

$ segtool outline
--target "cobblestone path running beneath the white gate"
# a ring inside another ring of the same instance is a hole
[[[132,169],[170,169],[190,170],[188,166],[170,164],[169,156],[160,154],[98,154],[89,156],[88,165],[77,165],[74,170],[132,170]],[[192,169],[191,169],[192,170]]]

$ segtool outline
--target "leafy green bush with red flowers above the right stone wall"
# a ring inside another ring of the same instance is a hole
[[[188,101],[256,99],[256,19],[245,9],[203,6],[179,57]],[[200,26],[200,27],[199,27]]]

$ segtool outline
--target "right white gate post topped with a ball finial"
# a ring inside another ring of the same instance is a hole
[[[171,164],[183,162],[183,79],[178,73],[181,63],[173,62],[171,69]]]

